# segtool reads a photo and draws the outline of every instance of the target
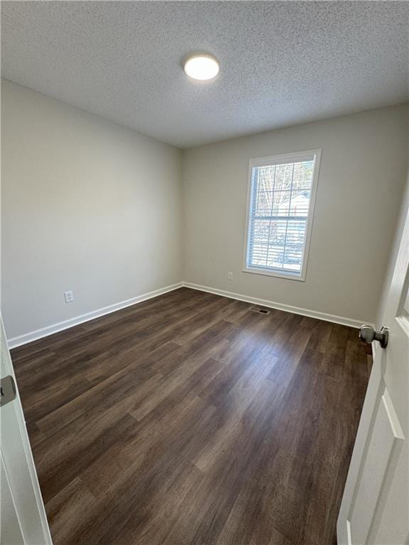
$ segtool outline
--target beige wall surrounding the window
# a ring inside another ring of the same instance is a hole
[[[184,150],[185,280],[374,322],[405,183],[407,111],[394,106]],[[249,159],[315,148],[322,162],[306,281],[241,272]]]

